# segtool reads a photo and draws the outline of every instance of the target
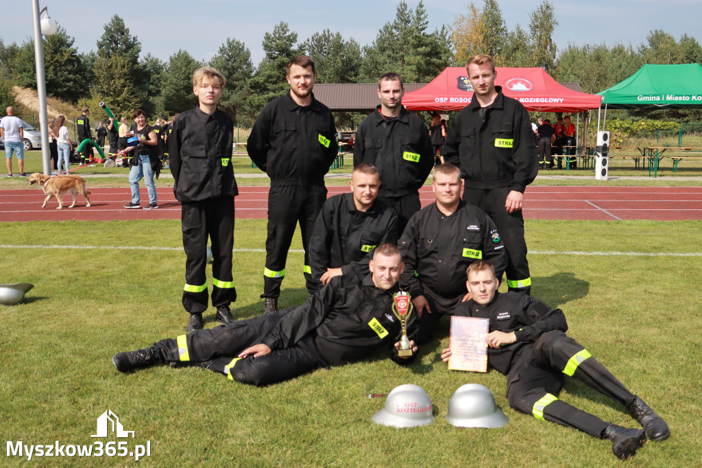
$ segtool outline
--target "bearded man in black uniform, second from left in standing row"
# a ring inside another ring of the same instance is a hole
[[[314,61],[296,56],[287,64],[290,91],[268,103],[253,124],[246,148],[270,177],[268,236],[263,269],[265,313],[277,310],[290,242],[300,223],[305,281],[312,285],[309,245],[326,200],[324,174],[338,152],[334,118],[312,94]]]

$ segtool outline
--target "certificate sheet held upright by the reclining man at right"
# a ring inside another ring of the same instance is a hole
[[[451,317],[450,370],[487,372],[488,327],[487,318]]]

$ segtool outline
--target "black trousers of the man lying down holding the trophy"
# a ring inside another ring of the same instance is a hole
[[[293,379],[326,364],[311,334],[289,348],[274,349],[260,358],[237,358],[244,349],[263,342],[286,311],[268,313],[230,325],[196,330],[176,339],[154,344],[157,356],[164,363],[201,363],[211,360],[210,370],[221,372],[231,380],[251,385],[268,385]]]

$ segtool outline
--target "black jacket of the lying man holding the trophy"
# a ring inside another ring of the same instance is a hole
[[[305,304],[289,309],[263,344],[270,349],[288,348],[312,334],[329,365],[364,358],[383,345],[390,348],[395,362],[411,363],[412,358],[397,357],[395,349],[401,334],[391,309],[392,294],[397,291],[397,287],[389,291],[376,287],[370,273],[336,276]]]

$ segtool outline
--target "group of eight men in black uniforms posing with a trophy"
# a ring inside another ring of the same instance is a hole
[[[198,365],[265,385],[343,365],[379,346],[407,365],[418,345],[434,337],[444,314],[474,316],[489,319],[488,362],[507,375],[515,410],[607,438],[619,458],[633,456],[647,436],[667,438],[661,417],[567,337],[562,311],[530,296],[522,200],[538,162],[529,115],[495,85],[491,57],[474,56],[466,66],[474,98],[453,120],[445,163],[434,169],[435,202],[422,208],[418,190],[435,154],[424,122],[402,106],[402,77],[388,73],[378,79],[380,105],[357,129],[350,193],[327,200],[324,176],[338,152],[333,116],[312,93],[313,60],[289,61],[289,92],[265,106],[247,142],[251,160],[270,177],[264,313],[247,320],[235,320],[230,310],[237,299],[232,247],[238,190],[233,122],[217,108],[226,79],[211,67],[197,70],[193,92],[199,105],[174,120],[168,139],[173,190],[183,205],[187,333],[118,353],[112,358],[117,369]],[[298,224],[310,297],[278,310]],[[508,292],[499,293],[503,273]],[[409,318],[409,357],[397,352],[401,327],[391,313],[401,289],[416,310]],[[209,302],[224,326],[203,330]],[[444,350],[442,359],[450,354]],[[621,403],[643,429],[604,422],[559,400],[563,375]]]

